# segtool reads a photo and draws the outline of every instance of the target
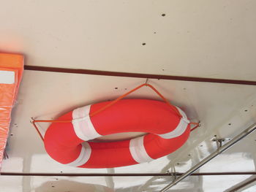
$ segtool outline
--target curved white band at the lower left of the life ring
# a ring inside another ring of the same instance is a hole
[[[83,142],[81,148],[80,155],[78,156],[75,161],[72,161],[69,164],[65,164],[67,166],[81,166],[83,164],[86,164],[86,162],[89,160],[91,156],[91,146],[89,145],[88,142]]]

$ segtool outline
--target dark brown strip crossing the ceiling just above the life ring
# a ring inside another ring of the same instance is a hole
[[[227,80],[227,79],[214,79],[206,77],[184,77],[184,76],[173,76],[163,74],[142,74],[142,73],[128,73],[128,72],[108,72],[90,69],[70,69],[70,68],[59,68],[59,67],[48,67],[48,66],[24,66],[25,70],[39,71],[39,72],[60,72],[60,73],[72,73],[72,74],[94,74],[94,75],[105,75],[113,77],[135,77],[135,78],[148,78],[158,80],[181,80],[181,81],[192,81],[192,82],[215,82],[215,83],[227,83],[237,85],[256,85],[256,81],[249,80]]]

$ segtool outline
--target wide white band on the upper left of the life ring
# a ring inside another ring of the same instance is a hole
[[[83,141],[89,141],[102,136],[97,133],[94,125],[91,123],[91,118],[89,116],[90,108],[91,105],[87,105],[86,107],[75,109],[72,112],[72,124],[75,134]]]

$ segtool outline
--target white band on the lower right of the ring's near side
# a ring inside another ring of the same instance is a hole
[[[139,164],[154,160],[154,158],[151,158],[146,152],[143,139],[144,136],[129,141],[129,151],[132,154],[132,158]]]

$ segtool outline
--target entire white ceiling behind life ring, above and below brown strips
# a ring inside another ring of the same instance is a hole
[[[2,1],[0,51],[24,54],[29,66],[256,81],[255,11],[256,1]],[[150,79],[202,126],[175,153],[115,169],[79,169],[53,161],[29,122],[116,99],[145,81],[25,71],[12,111],[9,158],[1,171],[165,173],[175,166],[186,172],[217,149],[214,135],[228,142],[256,122],[255,86]],[[148,88],[128,98],[158,99]],[[40,130],[47,126],[41,123]],[[255,172],[255,138],[250,134],[199,172]],[[191,176],[170,191],[231,191],[250,179]],[[159,191],[170,182],[171,177],[1,176],[0,191]],[[241,189],[255,190],[253,184]]]

